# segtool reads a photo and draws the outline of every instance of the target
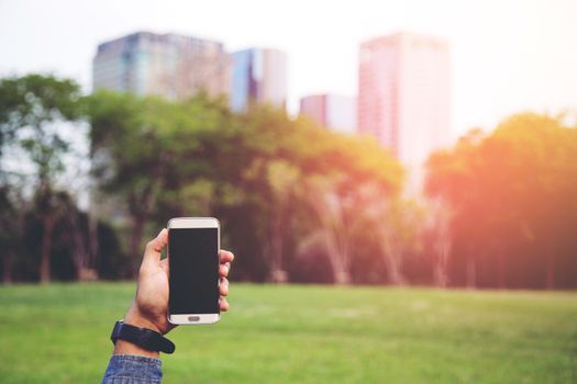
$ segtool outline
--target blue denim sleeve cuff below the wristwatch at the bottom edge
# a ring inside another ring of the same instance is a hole
[[[101,384],[160,384],[162,379],[160,359],[113,354]]]

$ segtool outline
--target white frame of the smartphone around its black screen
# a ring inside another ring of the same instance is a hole
[[[221,249],[221,229],[220,222],[214,217],[175,217],[168,221],[168,230],[171,228],[217,228],[217,249]],[[168,245],[170,247],[170,245]],[[170,250],[168,250],[170,251]],[[218,283],[220,282],[220,279]],[[214,324],[220,320],[220,312],[218,314],[178,314],[170,315],[167,313],[167,318],[170,324],[175,325],[202,325]]]

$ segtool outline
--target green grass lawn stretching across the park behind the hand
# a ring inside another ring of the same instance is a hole
[[[97,383],[132,283],[0,287],[0,383]],[[233,284],[164,383],[577,383],[577,293]]]

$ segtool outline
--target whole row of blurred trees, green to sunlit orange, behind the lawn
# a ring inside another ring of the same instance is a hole
[[[88,208],[67,188],[62,124],[88,127]],[[267,105],[4,78],[0,158],[31,171],[2,161],[0,268],[4,282],[132,278],[170,217],[211,215],[235,280],[574,287],[576,131],[531,114],[474,131],[431,156],[425,195],[408,199],[371,138]]]

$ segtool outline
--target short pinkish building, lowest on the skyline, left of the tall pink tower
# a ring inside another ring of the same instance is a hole
[[[337,94],[308,95],[300,99],[300,114],[336,132],[356,132],[355,98]]]

